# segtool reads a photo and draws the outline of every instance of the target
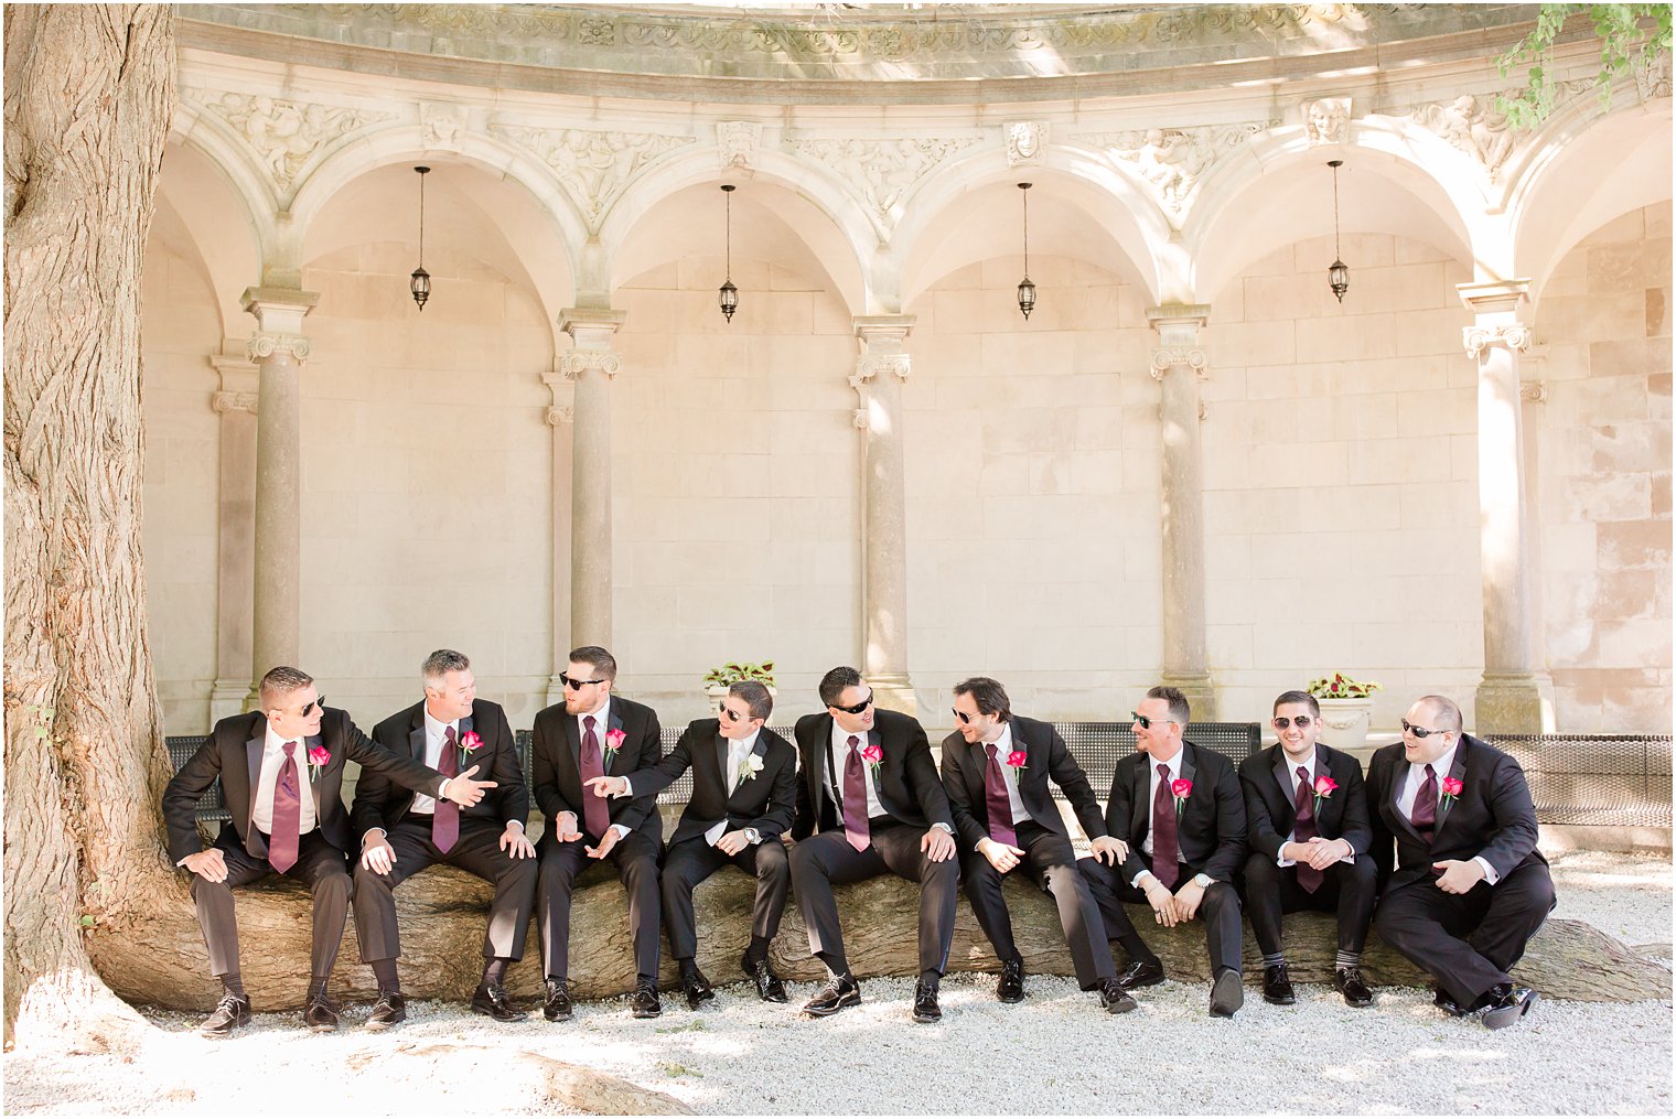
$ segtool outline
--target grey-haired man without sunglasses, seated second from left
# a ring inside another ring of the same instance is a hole
[[[421,792],[399,789],[367,772],[355,786],[350,819],[360,836],[355,866],[355,938],[360,958],[372,965],[379,1002],[369,1030],[387,1030],[407,1018],[396,960],[402,955],[396,926],[396,886],[436,863],[447,863],[494,883],[489,928],[483,938],[483,978],[471,1008],[496,1022],[525,1015],[506,998],[506,967],[523,958],[535,905],[535,846],[525,838],[530,789],[506,712],[478,699],[471,660],[451,648],[426,657],[419,668],[424,699],[372,729],[372,739],[397,757],[454,774],[466,766],[488,769],[493,796],[466,811]]]

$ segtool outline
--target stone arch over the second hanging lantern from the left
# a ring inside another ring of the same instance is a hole
[[[779,213],[801,219],[798,235],[821,263],[821,271],[853,313],[877,307],[880,276],[875,266],[878,235],[861,206],[830,176],[773,149],[758,151],[749,168],[721,168],[717,147],[706,146],[660,161],[640,176],[612,204],[600,226],[600,245],[610,268],[610,286],[630,280],[644,270],[634,261],[635,231],[667,199],[689,188],[722,183],[739,184],[734,208],[744,201],[753,184],[774,188]],[[716,221],[721,224],[721,191],[716,193]],[[736,223],[737,229],[737,223]],[[627,260],[618,260],[623,251]]]

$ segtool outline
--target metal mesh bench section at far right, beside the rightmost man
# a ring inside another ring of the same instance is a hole
[[[1488,740],[1525,769],[1539,822],[1671,826],[1668,734],[1497,734]]]

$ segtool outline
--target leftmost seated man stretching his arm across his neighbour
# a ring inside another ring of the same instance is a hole
[[[364,735],[349,712],[327,709],[313,677],[273,668],[261,677],[261,710],[228,715],[181,766],[163,791],[169,858],[193,873],[193,905],[210,950],[210,972],[221,980],[221,1002],[203,1027],[226,1037],[250,1024],[250,997],[238,967],[238,921],[233,886],[285,874],[313,890],[313,946],[303,1024],[317,1034],[337,1029],[327,980],[349,916],[349,856],[354,833],[344,811],[344,762],[416,792],[446,797],[461,807],[483,799],[493,781],[473,781],[471,766],[458,777],[391,754]],[[198,797],[221,779],[221,802],[231,819],[215,846],[198,838]]]

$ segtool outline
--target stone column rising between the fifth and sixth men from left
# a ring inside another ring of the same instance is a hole
[[[918,714],[908,680],[908,534],[902,446],[905,342],[913,315],[858,315],[861,357],[850,384],[861,397],[856,425],[866,429],[861,518],[861,675],[878,704]]]

